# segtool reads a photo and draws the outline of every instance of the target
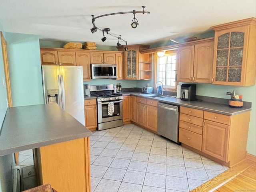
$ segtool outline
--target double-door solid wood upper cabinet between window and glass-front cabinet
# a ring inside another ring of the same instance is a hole
[[[214,38],[182,44],[178,48],[178,81],[212,82]]]

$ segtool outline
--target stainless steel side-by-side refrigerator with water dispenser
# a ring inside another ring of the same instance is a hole
[[[42,78],[44,102],[56,102],[85,125],[82,66],[43,65]]]

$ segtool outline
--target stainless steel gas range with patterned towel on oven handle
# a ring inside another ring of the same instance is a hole
[[[123,125],[123,96],[114,93],[114,85],[91,85],[90,94],[97,97],[98,130]]]

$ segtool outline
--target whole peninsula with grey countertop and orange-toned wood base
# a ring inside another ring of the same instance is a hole
[[[12,107],[0,133],[0,156],[34,149],[38,185],[90,192],[91,134],[58,104]]]

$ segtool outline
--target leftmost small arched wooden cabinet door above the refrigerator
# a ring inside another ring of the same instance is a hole
[[[41,65],[58,65],[58,52],[40,50]]]

